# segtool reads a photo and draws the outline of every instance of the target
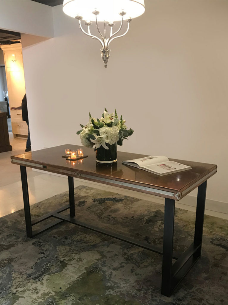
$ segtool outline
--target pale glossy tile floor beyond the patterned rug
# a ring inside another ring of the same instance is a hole
[[[10,156],[23,153],[26,147],[26,140],[20,138],[13,138],[12,132],[9,132],[9,138],[13,150],[10,152],[0,153],[0,217],[23,209],[20,167],[18,165],[11,164]],[[60,177],[58,175],[35,171],[27,167],[27,178],[30,204],[37,203],[41,200],[68,190],[68,179],[66,176]],[[148,194],[128,191],[107,185],[100,185],[96,182],[74,179],[74,186],[76,187],[78,185],[87,185],[127,196],[151,200],[151,196]],[[152,200],[157,203],[164,204],[164,199],[162,198],[154,196]],[[189,206],[187,204],[181,204],[176,202],[176,207],[180,207],[185,210],[195,211],[195,207]],[[205,210],[205,214],[228,219],[228,214],[225,213],[225,211],[224,213],[218,213],[212,211],[209,208],[209,210]]]

